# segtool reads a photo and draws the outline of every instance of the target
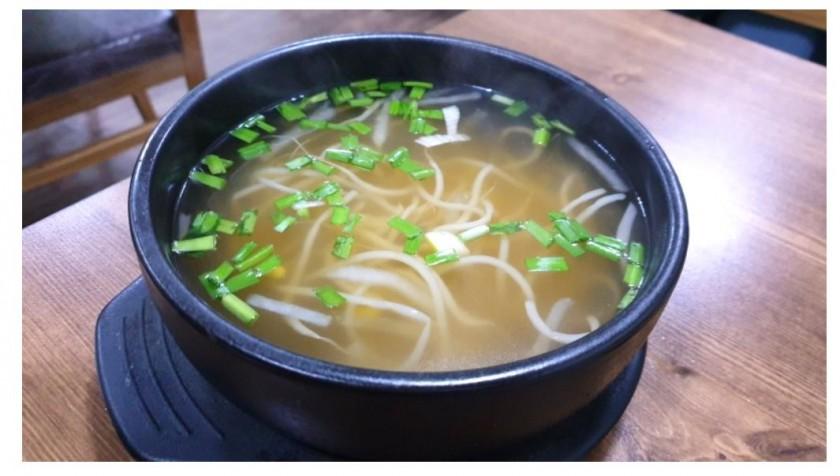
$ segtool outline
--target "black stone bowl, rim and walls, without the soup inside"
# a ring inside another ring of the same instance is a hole
[[[623,169],[649,227],[647,280],[608,324],[552,352],[456,372],[337,365],[252,337],[191,291],[173,267],[175,201],[200,154],[244,117],[301,92],[366,77],[473,84],[540,105]],[[595,143],[597,141],[597,144]],[[677,177],[644,127],[579,78],[483,43],[362,34],[284,46],[208,79],[164,116],[137,163],[131,234],[166,326],[231,401],[315,447],[359,458],[451,458],[545,430],[591,401],[645,343],[679,277],[688,220]]]

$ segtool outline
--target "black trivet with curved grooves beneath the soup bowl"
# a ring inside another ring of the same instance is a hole
[[[644,360],[643,347],[581,411],[538,437],[480,459],[583,459],[621,417]],[[111,420],[137,459],[339,459],[261,423],[216,391],[181,353],[142,279],[99,315],[96,363]]]

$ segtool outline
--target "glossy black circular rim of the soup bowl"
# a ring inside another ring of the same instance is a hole
[[[642,292],[625,310],[597,331],[553,351],[489,367],[466,370],[407,372],[352,367],[308,357],[275,346],[252,336],[231,323],[203,299],[194,294],[164,256],[152,224],[150,207],[151,177],[158,152],[172,128],[193,103],[252,64],[269,61],[303,48],[354,41],[423,41],[502,56],[571,84],[579,93],[602,101],[611,114],[636,140],[647,145],[648,159],[657,180],[663,182],[667,196],[668,226],[662,237],[670,250]],[[633,336],[667,302],[688,248],[688,218],[679,180],[662,147],[650,132],[626,109],[609,96],[571,73],[524,53],[463,38],[426,33],[353,33],[310,38],[259,53],[208,78],[189,91],[160,119],[146,143],[131,176],[128,195],[129,226],[132,241],[147,279],[169,304],[194,327],[241,356],[264,365],[273,372],[294,374],[327,384],[398,392],[452,391],[527,380],[546,373],[561,372],[615,349]]]

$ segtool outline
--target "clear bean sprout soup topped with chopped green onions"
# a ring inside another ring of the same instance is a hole
[[[555,349],[626,307],[640,210],[609,159],[522,101],[366,80],[213,144],[172,251],[220,314],[279,347],[459,370]]]

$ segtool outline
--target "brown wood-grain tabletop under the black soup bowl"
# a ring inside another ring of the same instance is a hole
[[[435,33],[545,59],[668,153],[691,244],[607,460],[825,458],[826,70],[663,12],[469,12]],[[23,233],[23,454],[126,459],[93,361],[138,275],[119,183]]]

